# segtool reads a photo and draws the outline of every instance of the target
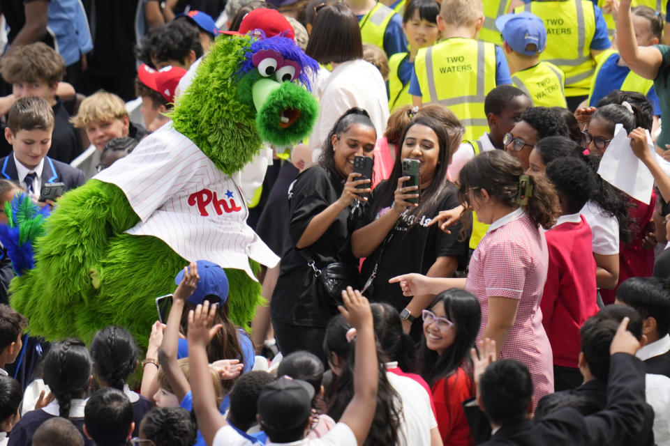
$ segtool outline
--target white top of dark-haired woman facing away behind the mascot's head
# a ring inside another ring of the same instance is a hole
[[[375,66],[363,59],[343,62],[320,88],[319,116],[309,137],[311,148],[321,147],[338,118],[351,107],[366,110],[377,137],[382,137],[389,120],[389,100],[384,79]]]

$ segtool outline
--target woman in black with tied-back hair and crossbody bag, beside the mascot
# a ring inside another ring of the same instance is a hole
[[[365,201],[370,180],[354,172],[356,156],[372,157],[377,132],[368,112],[349,109],[340,116],[323,144],[319,163],[303,171],[288,190],[291,246],[281,258],[272,294],[272,326],[283,355],[306,350],[327,364],[323,354],[326,325],[337,307],[319,298],[318,278],[309,265],[322,269],[333,262],[358,261],[349,243],[349,214]],[[357,185],[365,185],[357,189]]]

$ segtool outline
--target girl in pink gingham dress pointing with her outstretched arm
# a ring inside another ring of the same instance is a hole
[[[549,254],[539,226],[549,229],[556,222],[556,191],[544,176],[524,174],[521,162],[502,151],[474,157],[461,169],[459,183],[459,201],[490,225],[472,254],[468,277],[408,274],[390,282],[399,282],[408,296],[451,288],[475,295],[482,307],[477,341],[493,339],[499,359],[526,364],[537,404],[553,392],[551,345],[539,309]]]

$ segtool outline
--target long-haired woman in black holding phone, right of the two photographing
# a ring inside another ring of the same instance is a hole
[[[468,259],[467,237],[459,237],[458,230],[444,233],[429,226],[439,210],[459,204],[456,186],[447,177],[447,166],[461,140],[449,138],[447,129],[453,134],[461,125],[452,112],[440,109],[442,119],[422,114],[405,128],[391,176],[375,187],[351,236],[353,254],[367,257],[362,267],[366,294],[371,300],[395,307],[403,318],[405,332],[410,332],[416,322],[412,332],[416,339],[422,332],[422,309],[434,296],[415,295],[408,301],[389,279],[408,271],[451,277],[459,266],[465,268]],[[405,182],[412,178],[403,176],[403,163],[412,162],[419,164],[418,185],[407,185]]]

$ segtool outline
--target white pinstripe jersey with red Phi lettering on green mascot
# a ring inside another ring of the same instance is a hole
[[[123,190],[140,217],[126,233],[158,237],[188,261],[209,260],[253,279],[248,258],[269,267],[279,261],[246,225],[234,180],[171,124],[94,178]]]

